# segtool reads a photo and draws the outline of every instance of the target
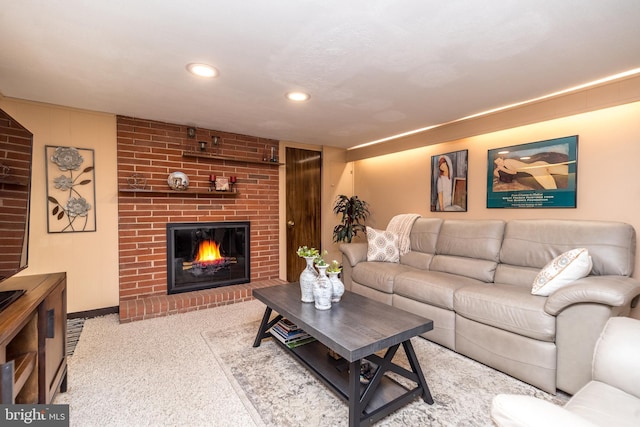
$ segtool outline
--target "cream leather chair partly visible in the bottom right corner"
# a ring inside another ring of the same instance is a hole
[[[564,407],[531,396],[501,394],[491,418],[511,426],[640,426],[640,320],[612,317],[593,355],[592,380]]]

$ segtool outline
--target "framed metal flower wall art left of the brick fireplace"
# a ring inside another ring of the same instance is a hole
[[[47,231],[96,231],[94,150],[46,145],[45,156]]]

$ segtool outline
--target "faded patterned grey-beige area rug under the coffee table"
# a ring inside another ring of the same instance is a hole
[[[286,353],[273,338],[253,348],[258,323],[204,332],[212,353],[243,401],[268,426],[346,426],[346,402]],[[562,405],[567,396],[545,393],[425,339],[412,344],[435,403],[416,399],[377,426],[492,426],[491,400],[525,394]],[[408,366],[402,350],[394,361]]]

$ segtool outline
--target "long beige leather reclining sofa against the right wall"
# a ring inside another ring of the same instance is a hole
[[[591,379],[605,323],[640,295],[635,230],[624,223],[418,218],[410,240],[399,263],[368,262],[367,243],[342,244],[345,287],[433,319],[424,338],[550,393]],[[538,272],[575,248],[588,249],[589,276],[532,295]]]

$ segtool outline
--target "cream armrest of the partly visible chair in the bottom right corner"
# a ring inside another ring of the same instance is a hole
[[[562,406],[532,396],[499,394],[491,404],[491,419],[499,427],[595,427]]]

